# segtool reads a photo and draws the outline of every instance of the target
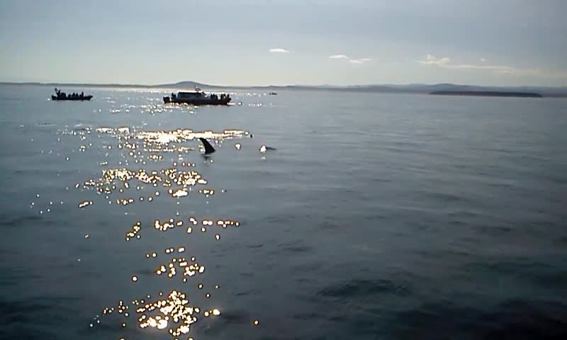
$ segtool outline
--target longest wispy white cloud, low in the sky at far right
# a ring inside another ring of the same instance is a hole
[[[449,57],[437,58],[433,55],[427,55],[425,60],[418,61],[420,64],[424,65],[434,65],[437,67],[442,67],[445,69],[477,69],[490,71],[495,74],[507,74],[512,76],[524,77],[524,76],[536,76],[536,77],[548,77],[548,78],[565,78],[567,77],[567,72],[553,72],[550,70],[542,69],[518,69],[517,67],[505,66],[505,65],[490,65],[485,64],[486,60],[481,59],[483,64],[452,64]]]

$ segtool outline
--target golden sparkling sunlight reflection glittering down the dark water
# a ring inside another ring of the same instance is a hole
[[[113,113],[126,112],[132,108],[131,106],[114,108]],[[163,110],[160,106],[153,104],[143,109],[152,111],[152,114]],[[249,132],[244,130],[195,132],[191,129],[144,131],[130,127],[102,127],[94,130],[90,128],[66,130],[62,132],[62,135],[69,135],[74,138],[78,136],[80,145],[77,151],[86,154],[97,150],[96,145],[93,146],[89,142],[89,138],[92,138],[93,135],[102,137],[101,141],[104,145],[99,146],[98,150],[102,149],[104,157],[108,157],[108,159],[97,160],[96,164],[100,164],[102,167],[100,172],[92,179],[86,179],[82,183],[74,183],[74,188],[80,193],[96,193],[99,200],[104,200],[103,206],[106,209],[122,209],[125,211],[125,215],[128,215],[128,213],[135,215],[135,211],[139,210],[133,211],[133,208],[143,207],[140,209],[147,209],[146,207],[150,204],[154,205],[156,201],[167,203],[169,200],[169,202],[174,201],[176,205],[179,205],[180,201],[185,202],[185,200],[191,202],[191,200],[207,199],[208,203],[210,198],[210,201],[213,202],[215,196],[225,191],[220,191],[220,188],[215,190],[208,179],[203,178],[200,173],[201,170],[197,171],[196,163],[188,162],[186,158],[189,156],[187,154],[196,148],[201,148],[201,143],[198,141],[199,137],[204,137],[211,143],[214,142],[215,147],[222,147],[223,140],[242,138],[248,136]],[[115,140],[116,144],[108,145],[109,138]],[[95,140],[92,140],[92,142],[95,142]],[[186,145],[185,143],[192,144]],[[242,148],[240,143],[236,143],[234,146],[237,150]],[[116,162],[112,162],[112,157],[110,157],[115,154],[120,157],[118,165]],[[77,162],[75,158],[62,156],[62,159],[67,162]],[[212,159],[206,163],[207,166],[210,166],[208,165],[210,163],[212,163]],[[148,164],[151,164],[153,169]],[[195,195],[195,193],[199,193],[199,195]],[[39,198],[39,194],[37,197]],[[96,208],[101,207],[98,201],[96,203],[96,207],[85,210],[85,212],[89,213],[89,211],[95,211]],[[30,206],[33,207],[34,204],[31,203]],[[78,204],[78,208],[83,209],[93,204],[94,199],[84,200]],[[210,291],[207,290],[211,290],[214,286],[213,293],[215,295],[223,291],[218,290],[220,288],[218,284],[207,286],[206,290],[203,283],[198,283],[206,275],[206,266],[201,261],[197,261],[197,256],[195,256],[190,242],[201,242],[200,239],[193,241],[195,237],[207,237],[210,240],[212,235],[214,235],[216,241],[220,242],[220,234],[227,232],[225,230],[227,227],[240,226],[240,222],[228,218],[218,218],[219,216],[213,218],[210,215],[197,218],[184,215],[181,207],[176,210],[178,211],[175,217],[155,215],[152,220],[138,217],[140,220],[128,223],[128,225],[132,223],[129,229],[126,229],[127,226],[124,225],[118,227],[124,228],[120,230],[125,232],[125,241],[130,241],[141,239],[142,224],[144,225],[142,242],[130,242],[126,245],[133,246],[132,249],[140,249],[139,246],[148,242],[147,239],[155,237],[152,235],[159,235],[157,237],[160,238],[172,235],[176,244],[165,247],[163,252],[157,251],[157,249],[145,249],[142,253],[145,259],[140,259],[140,261],[147,261],[145,264],[150,265],[147,272],[136,269],[135,273],[128,273],[126,279],[129,278],[129,285],[137,284],[135,286],[137,289],[144,287],[144,285],[151,285],[152,280],[172,282],[179,289],[172,290],[166,295],[159,292],[157,298],[152,301],[149,301],[151,297],[150,294],[147,294],[144,298],[133,300],[130,306],[129,302],[127,304],[120,300],[116,308],[105,307],[101,316],[108,317],[114,314],[125,318],[135,317],[136,322],[134,324],[140,329],[164,330],[174,338],[188,335],[191,332],[191,326],[198,322],[199,317],[220,317],[221,311],[218,306],[201,308],[192,305],[189,300],[191,290],[194,290],[193,293],[199,293],[199,299],[204,298],[209,303],[214,299]],[[180,229],[181,227],[183,229]],[[193,228],[197,228],[196,230],[201,232],[193,233]],[[177,234],[175,229],[178,229]],[[162,232],[172,232],[173,234],[161,234]],[[84,234],[84,239],[88,238],[89,234]],[[95,237],[89,242],[96,239],[99,239],[99,237]],[[223,235],[222,239],[223,242],[230,239],[230,234]],[[210,244],[214,246],[218,242],[210,242]],[[140,257],[142,256],[140,255]],[[200,257],[200,259],[202,258]],[[214,268],[214,264],[211,268]],[[149,274],[149,276],[145,274]],[[133,310],[130,310],[130,307],[133,307],[135,314]],[[130,314],[133,315],[130,316]],[[131,319],[128,322],[120,320],[116,327],[119,325],[120,329],[128,329],[128,327],[133,327],[131,321]],[[257,320],[255,322],[254,325],[257,325]],[[101,317],[97,315],[94,321],[89,322],[89,327],[96,329],[96,325],[100,323]],[[188,339],[192,338],[189,337]]]

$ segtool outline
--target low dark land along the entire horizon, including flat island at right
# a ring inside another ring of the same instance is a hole
[[[205,91],[216,90],[251,90],[251,91],[349,91],[381,94],[438,94],[447,96],[506,96],[506,97],[562,97],[567,98],[567,86],[477,86],[459,84],[366,84],[366,85],[269,85],[269,86],[239,86],[212,85],[196,81],[179,81],[172,84],[81,84],[81,83],[17,83],[0,81],[0,85],[12,86],[52,86],[58,88],[129,88],[129,89],[163,89],[164,91],[195,89]]]

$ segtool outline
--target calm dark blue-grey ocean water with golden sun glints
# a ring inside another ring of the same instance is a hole
[[[78,90],[0,87],[0,338],[566,339],[566,100]]]

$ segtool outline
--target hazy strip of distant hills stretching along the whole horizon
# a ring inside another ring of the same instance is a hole
[[[276,90],[325,90],[325,91],[359,91],[359,92],[379,92],[391,94],[430,94],[439,91],[471,91],[471,92],[515,92],[515,93],[536,93],[545,97],[567,97],[567,86],[476,86],[459,84],[369,84],[369,85],[287,85],[287,86],[222,86],[198,83],[196,81],[179,81],[173,84],[140,85],[140,84],[65,84],[65,83],[10,83],[0,82],[0,84],[11,85],[38,85],[52,87],[121,87],[135,89],[194,89],[196,87],[206,89],[265,89]]]

